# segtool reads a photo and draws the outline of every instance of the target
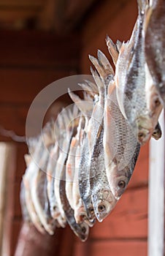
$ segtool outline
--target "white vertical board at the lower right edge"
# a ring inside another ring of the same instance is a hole
[[[164,113],[160,124],[162,138],[150,140],[148,256],[164,255]]]

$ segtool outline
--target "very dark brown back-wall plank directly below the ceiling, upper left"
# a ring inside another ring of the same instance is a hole
[[[77,69],[81,47],[78,34],[60,37],[46,31],[1,30],[0,37],[0,67]]]

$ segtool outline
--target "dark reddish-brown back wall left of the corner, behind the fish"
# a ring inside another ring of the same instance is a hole
[[[53,33],[37,31],[0,31],[0,37],[0,125],[15,131],[18,135],[25,135],[28,108],[39,91],[59,78],[77,74],[79,37],[78,35],[59,37]],[[57,115],[61,105],[66,105],[69,98],[64,97],[61,100],[63,102],[58,102],[53,109],[54,115]],[[0,136],[0,139],[11,140],[3,136]],[[14,255],[22,222],[20,181],[26,169],[23,155],[27,152],[24,143],[15,143],[15,147],[17,154],[14,180],[15,201],[11,227],[11,255],[9,256]],[[54,254],[62,236],[61,232],[61,230],[57,231],[56,239],[48,235],[41,238],[41,241],[47,241],[46,244],[49,246],[47,246],[48,251],[46,246],[41,246],[39,255],[47,255],[48,252],[50,253],[50,248],[52,248],[52,255]],[[33,239],[30,239],[29,244],[34,244]]]

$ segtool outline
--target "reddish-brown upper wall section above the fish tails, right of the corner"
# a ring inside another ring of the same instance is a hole
[[[90,73],[90,61],[88,54],[96,56],[98,49],[102,50],[108,59],[108,53],[105,38],[107,34],[114,40],[127,40],[131,35],[134,22],[137,18],[136,1],[104,1],[89,16],[83,26],[82,34],[82,55],[81,71],[83,74]],[[111,61],[112,63],[112,61]]]

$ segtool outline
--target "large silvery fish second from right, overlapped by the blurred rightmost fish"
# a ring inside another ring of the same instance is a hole
[[[146,96],[146,88],[150,86],[146,81],[143,31],[147,0],[139,0],[138,7],[139,14],[131,39],[120,47],[115,83],[120,110],[133,127],[139,143],[144,144],[158,123],[160,111],[148,109]]]

